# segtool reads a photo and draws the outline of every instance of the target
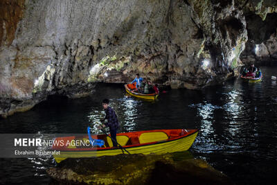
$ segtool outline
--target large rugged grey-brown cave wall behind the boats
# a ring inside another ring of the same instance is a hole
[[[10,3],[11,2],[11,3]],[[135,73],[199,89],[238,75],[244,1],[2,1],[0,114]]]

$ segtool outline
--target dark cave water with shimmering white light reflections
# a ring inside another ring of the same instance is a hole
[[[104,115],[100,101],[111,99],[120,131],[198,128],[190,152],[208,161],[236,184],[276,184],[277,67],[262,67],[256,84],[231,80],[201,91],[172,89],[157,103],[125,96],[123,85],[100,84],[93,96],[49,98],[28,112],[0,120],[1,133],[85,133]],[[97,131],[96,131],[97,133]],[[2,184],[48,184],[53,159],[1,159]]]

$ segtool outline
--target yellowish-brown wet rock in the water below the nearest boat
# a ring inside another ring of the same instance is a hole
[[[232,184],[206,161],[172,154],[66,159],[46,171],[57,184]]]

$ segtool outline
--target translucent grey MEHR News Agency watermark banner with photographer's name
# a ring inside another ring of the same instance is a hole
[[[69,150],[93,150],[94,143],[87,134],[0,134],[0,158],[49,158]]]

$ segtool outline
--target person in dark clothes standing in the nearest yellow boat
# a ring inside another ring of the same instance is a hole
[[[116,112],[114,111],[114,109],[109,107],[108,99],[102,100],[102,106],[105,109],[106,116],[101,120],[101,122],[107,119],[107,123],[103,123],[99,128],[102,129],[102,127],[109,127],[109,133],[111,134],[111,141],[113,143],[113,146],[116,147],[117,146],[116,132],[119,127]]]

